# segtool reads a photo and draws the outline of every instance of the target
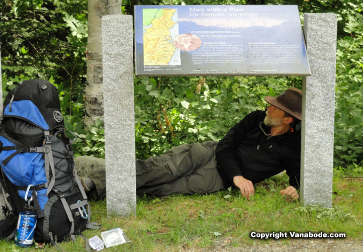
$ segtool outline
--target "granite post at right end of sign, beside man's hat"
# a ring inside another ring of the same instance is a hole
[[[301,199],[332,205],[337,16],[305,13],[304,35],[311,70],[303,78]]]

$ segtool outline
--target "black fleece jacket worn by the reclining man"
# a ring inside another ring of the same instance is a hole
[[[266,136],[261,127],[266,134],[271,128],[263,123],[265,116],[262,110],[248,114],[219,141],[217,169],[226,188],[237,175],[257,183],[286,170],[290,185],[299,189],[301,130]]]

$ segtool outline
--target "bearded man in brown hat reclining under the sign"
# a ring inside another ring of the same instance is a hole
[[[286,170],[290,186],[279,193],[298,199],[302,92],[291,87],[265,100],[271,104],[266,111],[248,114],[219,142],[182,144],[136,160],[137,194],[204,194],[235,185],[250,198],[254,183]],[[103,195],[105,171],[93,172],[82,183],[86,191]]]

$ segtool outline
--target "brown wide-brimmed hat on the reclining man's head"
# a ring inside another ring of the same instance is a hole
[[[302,91],[296,87],[290,87],[277,97],[266,96],[265,100],[271,105],[289,113],[301,120]]]

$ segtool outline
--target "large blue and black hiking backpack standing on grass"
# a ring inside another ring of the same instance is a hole
[[[0,124],[1,189],[6,218],[0,238],[15,233],[27,199],[37,209],[36,242],[63,241],[89,223],[91,209],[65,134],[57,88],[44,80],[20,83],[6,96]]]

